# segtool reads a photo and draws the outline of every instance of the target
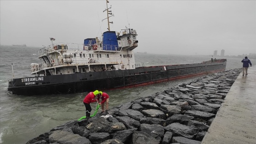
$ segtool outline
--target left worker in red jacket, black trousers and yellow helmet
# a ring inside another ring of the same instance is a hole
[[[97,96],[99,96],[99,91],[98,90],[90,92],[87,96],[85,96],[85,99],[84,99],[83,102],[84,102],[84,105],[85,105],[86,118],[90,118],[90,113],[91,113],[90,103],[98,101]]]

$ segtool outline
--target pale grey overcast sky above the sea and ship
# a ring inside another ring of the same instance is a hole
[[[135,52],[256,53],[255,0],[109,0],[111,31],[137,31]],[[107,31],[106,0],[0,0],[0,44],[83,43]]]

